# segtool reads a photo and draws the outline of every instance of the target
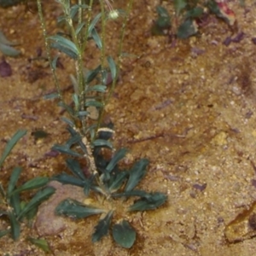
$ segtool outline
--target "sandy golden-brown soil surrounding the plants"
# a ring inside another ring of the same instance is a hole
[[[249,256],[256,252],[255,4],[248,1],[242,8],[238,1],[229,3],[236,12],[236,32],[212,16],[200,36],[176,42],[151,35],[157,4],[154,0],[134,4],[125,51],[140,58],[124,60],[107,113],[115,125],[116,148],[130,148],[129,161],[150,160],[140,188],[164,192],[168,201],[157,211],[130,216],[138,234],[130,250],[116,246],[109,236],[92,244],[93,217],[65,220],[70,228],[44,236],[54,255]],[[49,32],[54,33],[53,20],[60,12],[52,3],[45,6]],[[167,8],[172,11],[171,5]],[[62,156],[45,155],[54,143],[65,141],[67,131],[56,102],[43,99],[54,90],[47,63],[29,61],[44,49],[38,15],[26,12],[24,6],[0,9],[0,24],[9,39],[20,42],[23,52],[20,58],[6,58],[13,75],[0,78],[0,149],[17,129],[28,131],[0,178],[6,181],[17,165],[24,168],[20,182],[67,170]],[[115,27],[118,24],[109,26],[109,52],[116,47]],[[223,44],[239,32],[244,32],[240,42]],[[93,55],[85,59],[92,66],[97,61]],[[65,59],[61,63],[62,86],[70,94],[68,74],[73,69]],[[49,136],[35,141],[32,132],[38,129]],[[0,255],[44,255],[26,241],[27,236],[38,237],[37,230],[24,225],[19,241],[3,237]]]

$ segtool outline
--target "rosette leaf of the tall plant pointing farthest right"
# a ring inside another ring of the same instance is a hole
[[[155,192],[148,193],[147,196],[142,199],[136,201],[131,207],[129,207],[129,211],[147,211],[154,210],[157,207],[163,205],[167,200],[167,195]]]

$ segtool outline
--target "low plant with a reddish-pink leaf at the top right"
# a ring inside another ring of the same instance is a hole
[[[234,12],[226,3],[214,0],[174,0],[173,8],[175,15],[171,17],[166,8],[160,5],[156,7],[158,17],[151,29],[153,35],[168,35],[172,32],[177,38],[189,38],[198,33],[199,26],[206,22],[209,14],[216,15],[230,26],[234,26],[236,21]]]

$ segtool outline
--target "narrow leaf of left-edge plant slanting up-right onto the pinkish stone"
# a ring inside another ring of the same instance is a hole
[[[45,189],[39,190],[36,195],[32,197],[26,206],[21,210],[18,219],[26,215],[27,212],[31,211],[32,208],[38,207],[44,200],[48,199],[50,195],[55,193],[55,189],[52,187],[47,187]]]

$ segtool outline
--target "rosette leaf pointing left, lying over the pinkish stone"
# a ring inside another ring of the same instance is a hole
[[[56,207],[55,212],[59,215],[65,215],[70,218],[86,218],[90,215],[105,212],[105,210],[88,207],[73,199],[66,199],[64,201],[61,201],[58,207]]]

